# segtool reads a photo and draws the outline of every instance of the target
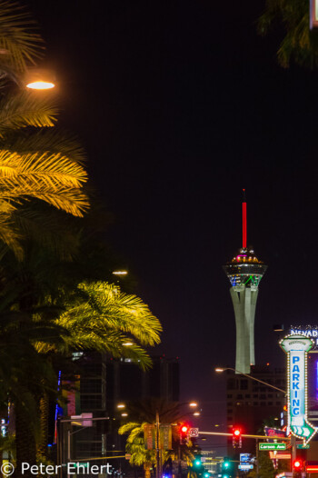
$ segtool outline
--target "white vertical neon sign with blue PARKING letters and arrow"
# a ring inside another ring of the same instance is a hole
[[[294,436],[308,443],[317,431],[307,418],[307,353],[313,347],[313,340],[303,335],[288,335],[280,345],[287,354],[288,425]]]

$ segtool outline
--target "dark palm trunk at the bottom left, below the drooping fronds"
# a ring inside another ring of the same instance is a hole
[[[30,469],[25,470],[25,473],[22,475],[22,463],[29,463],[30,466],[36,464],[36,447],[30,417],[20,403],[15,404],[15,445],[15,477],[34,478],[34,474],[30,472]]]

